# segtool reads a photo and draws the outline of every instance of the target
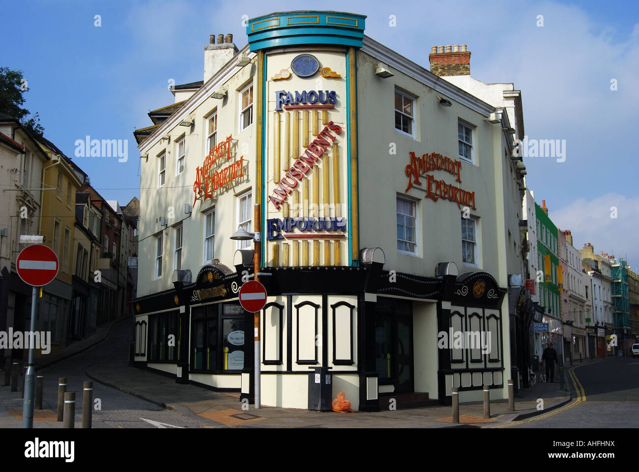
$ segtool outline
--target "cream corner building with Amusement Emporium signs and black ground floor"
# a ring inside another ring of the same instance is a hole
[[[446,404],[453,387],[481,400],[484,384],[507,398],[507,114],[364,36],[365,19],[249,20],[249,44],[207,46],[235,54],[145,129],[137,365],[252,399],[238,290],[255,257],[263,405],[306,408],[313,367],[360,410]],[[257,253],[229,239],[238,226]]]

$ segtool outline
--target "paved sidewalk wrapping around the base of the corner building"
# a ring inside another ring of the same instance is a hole
[[[91,366],[91,379],[144,398],[148,402],[174,409],[185,415],[198,415],[215,421],[213,427],[318,427],[318,428],[397,428],[397,427],[492,427],[509,421],[545,413],[567,404],[569,390],[561,391],[559,383],[539,382],[521,398],[516,398],[515,411],[508,411],[507,400],[491,402],[491,418],[483,418],[482,402],[461,404],[459,425],[452,423],[450,406],[380,411],[375,413],[334,413],[305,409],[262,407],[250,405],[243,411],[239,393],[220,393],[192,385],[176,384],[174,379],[146,370],[104,361]],[[567,372],[566,379],[567,377]],[[566,386],[568,384],[566,383]],[[537,399],[543,398],[544,409],[537,409]]]

